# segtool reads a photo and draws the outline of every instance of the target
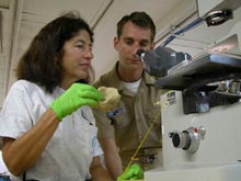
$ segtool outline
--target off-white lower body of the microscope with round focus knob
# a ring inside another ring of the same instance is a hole
[[[181,91],[161,99],[163,167],[145,181],[240,181],[241,102],[184,115]]]

